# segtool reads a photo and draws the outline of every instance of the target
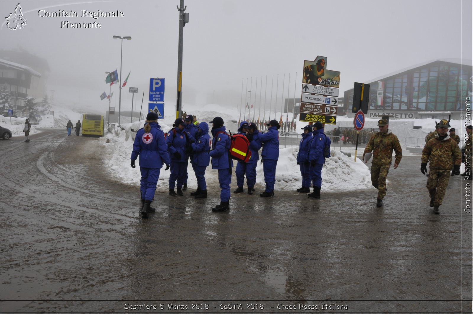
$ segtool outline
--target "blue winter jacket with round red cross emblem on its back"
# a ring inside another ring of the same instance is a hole
[[[133,142],[133,151],[131,160],[136,160],[140,155],[140,167],[144,168],[162,168],[163,163],[169,165],[169,155],[167,154],[167,145],[164,138],[164,132],[157,122],[149,123],[151,130],[146,133],[141,128],[136,133]]]

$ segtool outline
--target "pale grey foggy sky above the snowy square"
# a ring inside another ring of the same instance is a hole
[[[109,93],[105,71],[120,73],[123,41],[122,110],[128,110],[128,87],[138,87],[135,102],[149,78],[166,78],[166,114],[175,110],[179,0],[138,1],[30,1],[20,2],[27,25],[0,30],[3,49],[22,47],[47,59],[51,68],[46,90],[55,90],[57,103],[93,107],[105,112]],[[66,3],[70,3],[66,5]],[[1,17],[17,2],[2,1]],[[470,0],[185,0],[189,23],[184,27],[183,105],[214,103],[239,106],[242,79],[246,90],[264,97],[267,104],[274,75],[272,103],[278,95],[300,97],[304,60],[326,56],[327,70],[341,72],[340,96],[356,82],[368,82],[422,62],[444,58],[472,59],[472,3]],[[73,10],[79,17],[39,17],[38,10]],[[124,17],[80,17],[88,11],[121,10]],[[100,29],[61,29],[61,20],[99,22]],[[463,23],[463,24],[462,24]],[[296,77],[296,86],[295,76]],[[285,85],[283,90],[283,75]],[[258,77],[258,86],[255,80]],[[260,87],[263,77],[263,87]],[[250,79],[252,87],[246,87]],[[112,106],[118,108],[118,86],[113,85]],[[214,92],[215,91],[215,92]],[[252,95],[255,95],[252,94]],[[298,95],[299,94],[299,95]],[[254,98],[251,102],[253,103]],[[262,99],[263,102],[263,99]],[[274,106],[274,105],[273,105]]]

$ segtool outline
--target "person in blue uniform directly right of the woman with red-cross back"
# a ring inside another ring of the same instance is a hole
[[[182,196],[185,172],[187,168],[188,155],[186,148],[190,146],[194,138],[184,130],[184,119],[176,119],[166,137],[166,143],[171,157],[171,174],[169,175],[169,195]],[[177,179],[177,194],[174,191]]]

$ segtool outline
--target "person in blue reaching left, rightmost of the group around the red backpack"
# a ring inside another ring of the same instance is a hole
[[[261,159],[263,159],[263,173],[266,189],[260,196],[274,196],[274,183],[276,182],[276,165],[279,158],[279,122],[271,120],[268,124],[268,131],[258,137],[258,141],[263,144]]]

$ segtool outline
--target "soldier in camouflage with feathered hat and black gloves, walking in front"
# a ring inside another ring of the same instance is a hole
[[[438,135],[429,140],[422,150],[422,163],[420,171],[427,172],[427,162],[429,162],[430,175],[427,180],[427,190],[429,190],[430,207],[434,208],[435,214],[440,214],[438,207],[442,205],[445,196],[445,189],[450,180],[450,169],[452,161],[455,174],[460,174],[460,163],[462,154],[455,140],[447,135],[450,124],[447,120],[441,120],[437,124]]]

